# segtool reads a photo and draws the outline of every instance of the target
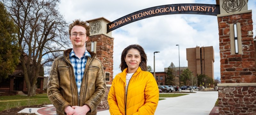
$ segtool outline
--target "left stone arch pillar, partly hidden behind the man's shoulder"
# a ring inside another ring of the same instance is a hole
[[[98,109],[108,109],[108,92],[113,81],[113,48],[114,38],[112,33],[107,33],[107,24],[111,21],[108,19],[97,18],[86,21],[91,27],[89,40],[86,42],[86,49],[91,50],[92,42],[96,49],[96,57],[100,59],[106,75],[106,96],[98,106]]]

